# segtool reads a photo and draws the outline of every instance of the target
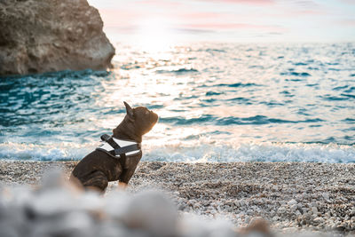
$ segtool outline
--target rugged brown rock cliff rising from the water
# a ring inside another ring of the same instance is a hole
[[[114,47],[86,0],[0,0],[0,75],[106,69]]]

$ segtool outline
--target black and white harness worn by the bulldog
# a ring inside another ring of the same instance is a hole
[[[101,136],[101,144],[96,150],[105,152],[116,159],[126,158],[141,153],[140,143],[130,140],[112,138],[107,134]]]

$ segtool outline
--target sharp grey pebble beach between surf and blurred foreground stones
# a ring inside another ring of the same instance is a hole
[[[0,161],[0,182],[36,185],[55,166],[68,177],[75,163]],[[355,163],[140,162],[127,190],[147,188],[165,190],[181,212],[237,226],[263,217],[283,232],[355,233]]]

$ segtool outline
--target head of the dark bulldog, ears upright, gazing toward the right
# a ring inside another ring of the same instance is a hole
[[[122,122],[126,129],[125,132],[130,132],[138,137],[143,136],[149,130],[152,130],[155,123],[158,122],[158,115],[152,110],[149,110],[146,107],[131,108],[128,103],[123,103],[127,112]]]

